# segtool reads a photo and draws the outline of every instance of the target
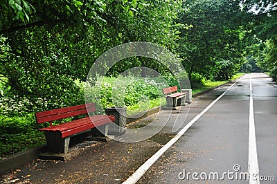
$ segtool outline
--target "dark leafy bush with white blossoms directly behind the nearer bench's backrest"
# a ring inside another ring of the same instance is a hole
[[[5,80],[3,77],[0,79]],[[29,99],[24,96],[13,95],[10,91],[10,87],[0,82],[0,113],[9,117],[23,116],[37,111],[84,104],[83,91],[80,90],[75,82],[71,81],[71,83],[74,89],[72,91],[69,89],[60,89],[55,96],[44,95],[44,98],[34,96],[34,98]],[[49,87],[49,90],[50,88],[51,87]]]

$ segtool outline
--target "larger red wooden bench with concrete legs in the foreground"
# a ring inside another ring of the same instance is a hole
[[[89,113],[94,111],[96,111],[95,104],[89,103],[35,113],[37,123],[50,122],[50,127],[39,129],[39,131],[44,131],[45,133],[48,151],[66,154],[69,149],[70,136],[89,129],[96,132],[98,136],[100,133],[102,133],[102,136],[107,136],[109,123],[115,120],[114,116],[94,115],[89,117]],[[84,118],[52,125],[55,120],[84,114],[86,115]]]

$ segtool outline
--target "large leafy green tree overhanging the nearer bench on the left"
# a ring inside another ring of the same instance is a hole
[[[28,8],[28,23],[26,15],[24,24],[9,8],[6,13],[14,18],[2,17],[0,71],[8,78],[6,93],[10,98],[27,98],[31,111],[82,103],[73,81],[86,80],[93,62],[113,46],[146,41],[175,47],[176,1],[29,3],[33,8]],[[133,66],[161,68],[158,62],[129,59],[116,64],[110,74]]]

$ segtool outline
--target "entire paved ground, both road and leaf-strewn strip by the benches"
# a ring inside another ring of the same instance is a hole
[[[162,131],[148,140],[136,143],[91,143],[72,160],[34,160],[33,163],[2,176],[1,182],[123,183],[159,149],[166,147],[166,143],[176,135],[172,132],[175,122],[179,122],[181,128],[190,125],[191,120],[199,116],[231,85],[227,84],[201,95],[190,106],[171,113],[170,120]],[[251,98],[253,120],[249,116]],[[149,117],[140,124],[147,124],[152,119],[164,122],[168,113],[170,111],[161,111],[159,116]],[[233,172],[235,176],[235,173],[247,173],[249,169],[253,174],[258,169],[259,176],[275,177],[275,181],[260,183],[277,183],[276,115],[277,88],[271,79],[262,73],[244,75],[141,178],[137,178],[138,183],[249,183],[228,178],[228,172]],[[150,126],[150,129],[155,129],[155,126]],[[256,134],[251,134],[253,130]],[[234,165],[238,172],[234,171]],[[188,175],[189,179],[184,177],[185,172],[191,173]],[[193,172],[199,174],[195,175],[199,181],[192,178]],[[206,176],[204,173],[215,175],[216,172],[220,174],[220,178],[226,172],[224,180],[202,179]]]

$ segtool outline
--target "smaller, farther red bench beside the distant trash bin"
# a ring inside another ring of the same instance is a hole
[[[174,93],[177,90],[177,86],[163,89],[163,94],[166,95],[166,107],[177,107],[177,105],[185,104],[186,93]],[[171,94],[167,95],[169,93]]]

